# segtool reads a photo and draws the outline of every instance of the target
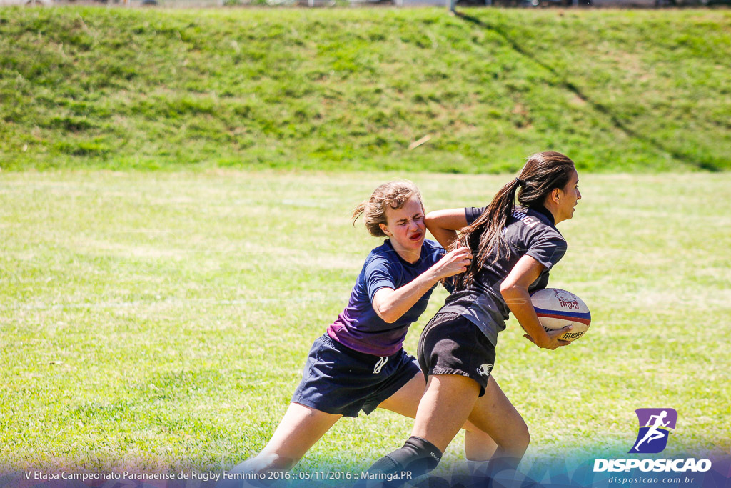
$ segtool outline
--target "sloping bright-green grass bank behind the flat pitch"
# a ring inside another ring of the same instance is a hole
[[[1,8],[0,167],[731,168],[730,11],[463,12]]]

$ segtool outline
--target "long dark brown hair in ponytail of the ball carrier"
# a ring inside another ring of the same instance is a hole
[[[461,230],[450,246],[450,250],[467,246],[474,255],[467,271],[455,276],[456,289],[468,288],[472,284],[488,256],[495,256],[494,263],[510,255],[502,230],[515,209],[516,194],[523,206],[542,205],[553,189],[566,187],[574,169],[574,162],[560,152],[539,152],[528,158],[518,178],[504,185],[482,215]]]

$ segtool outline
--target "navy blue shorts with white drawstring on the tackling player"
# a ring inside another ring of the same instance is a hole
[[[357,417],[360,410],[368,415],[419,372],[414,356],[403,349],[373,356],[324,334],[312,345],[292,402],[346,417]]]

